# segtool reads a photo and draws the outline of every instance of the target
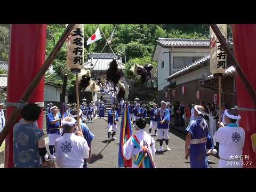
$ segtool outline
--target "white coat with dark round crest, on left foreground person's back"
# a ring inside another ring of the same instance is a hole
[[[89,158],[87,141],[74,133],[64,133],[55,141],[57,165],[60,168],[83,168],[84,158]]]

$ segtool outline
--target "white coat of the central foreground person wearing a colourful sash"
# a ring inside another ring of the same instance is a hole
[[[156,153],[155,140],[145,130],[139,130],[138,133],[136,134],[136,137],[140,142],[140,146],[143,146],[143,143],[144,145],[147,143],[148,150],[151,156],[153,156]],[[142,149],[136,149],[133,146],[134,145],[132,143],[132,138],[129,138],[126,141],[126,143],[124,143],[123,155],[127,160],[132,158],[132,168],[139,168],[138,165],[134,164],[134,161],[135,161],[135,157],[140,151],[142,151]]]

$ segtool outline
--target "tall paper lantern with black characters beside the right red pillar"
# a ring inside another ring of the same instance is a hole
[[[217,26],[223,37],[227,39],[227,24],[217,24]],[[210,27],[210,71],[212,74],[223,74],[226,68],[227,54]]]

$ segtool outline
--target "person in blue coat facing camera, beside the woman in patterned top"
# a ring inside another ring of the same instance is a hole
[[[60,118],[61,117],[58,113],[58,107],[53,106],[51,108],[51,113],[49,113],[46,119],[46,132],[49,137],[49,150],[52,158],[56,158],[53,153],[55,153],[55,140],[60,136]]]

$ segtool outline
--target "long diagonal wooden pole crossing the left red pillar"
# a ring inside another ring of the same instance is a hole
[[[53,60],[57,57],[57,54],[59,53],[62,45],[65,43],[66,39],[68,38],[68,35],[71,33],[71,31],[73,30],[74,27],[75,27],[75,24],[69,24],[68,27],[65,29],[65,31],[61,35],[59,41],[57,42],[57,44],[54,46],[53,50],[51,51],[49,57],[44,61],[42,68],[38,71],[38,74],[34,77],[33,81],[31,81],[31,83],[28,86],[28,89],[22,95],[19,102],[27,102],[29,100],[29,98],[33,94],[33,91],[35,90],[36,86],[41,81],[41,79],[44,76],[44,74],[46,73],[46,71],[49,69]],[[20,113],[21,113],[21,109],[14,108],[10,118],[7,119],[4,129],[0,133],[0,146],[2,145],[7,134],[13,127],[14,123],[17,122],[17,120],[20,116]]]

